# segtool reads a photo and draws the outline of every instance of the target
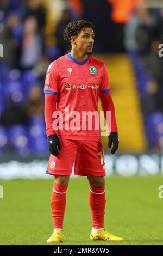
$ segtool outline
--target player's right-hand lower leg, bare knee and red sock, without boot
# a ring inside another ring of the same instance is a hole
[[[105,179],[104,177],[87,175],[89,180],[89,204],[91,208],[92,230],[104,228],[105,214]]]

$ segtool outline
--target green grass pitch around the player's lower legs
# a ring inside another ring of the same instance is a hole
[[[0,181],[0,244],[45,245],[53,231],[53,179]],[[106,178],[105,227],[123,242],[91,241],[86,178],[71,179],[67,191],[65,242],[60,245],[163,245],[162,176]]]

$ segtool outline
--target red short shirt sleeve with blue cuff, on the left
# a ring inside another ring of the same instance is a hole
[[[59,74],[55,62],[46,71],[44,93],[59,94]]]

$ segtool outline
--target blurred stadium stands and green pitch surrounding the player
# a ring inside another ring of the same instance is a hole
[[[35,239],[36,231],[47,238],[52,229],[48,205],[52,177],[45,174],[49,153],[43,84],[49,63],[70,50],[62,38],[63,29],[78,19],[95,24],[93,56],[108,68],[120,137],[120,149],[114,156],[107,148],[108,137],[102,137],[111,205],[106,223],[122,236],[127,229],[128,237],[139,227],[143,244],[162,244],[158,234],[163,231],[163,199],[158,193],[163,185],[163,57],[159,57],[163,3],[148,0],[0,1],[0,185],[4,197],[0,208],[5,234],[0,244],[41,244],[39,236]],[[85,178],[71,179],[67,228],[68,223],[71,229],[79,225],[79,215],[90,230],[90,216],[87,220],[85,215],[89,209],[84,211],[87,192]],[[42,228],[45,218],[47,224]],[[11,223],[17,231],[12,239]],[[28,239],[18,235],[20,230],[26,230]],[[135,239],[137,236],[135,233]],[[78,244],[75,235],[72,241]],[[137,239],[126,244],[135,241],[141,243]],[[80,243],[89,244],[89,240],[83,238]]]

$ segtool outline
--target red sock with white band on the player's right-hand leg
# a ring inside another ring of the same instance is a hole
[[[92,216],[92,228],[104,228],[105,187],[90,187],[89,204]]]

